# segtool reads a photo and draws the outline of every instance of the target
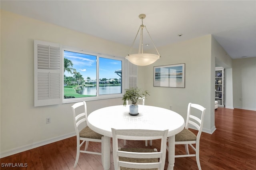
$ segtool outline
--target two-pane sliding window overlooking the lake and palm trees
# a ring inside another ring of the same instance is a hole
[[[64,102],[122,97],[124,58],[64,48]]]

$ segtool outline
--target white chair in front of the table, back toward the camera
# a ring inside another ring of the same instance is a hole
[[[115,170],[154,169],[164,170],[168,130],[116,130],[112,128]],[[149,148],[118,148],[118,139],[161,139],[160,151]]]

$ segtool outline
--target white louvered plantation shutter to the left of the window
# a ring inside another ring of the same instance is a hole
[[[34,40],[34,106],[61,102],[60,44]]]

